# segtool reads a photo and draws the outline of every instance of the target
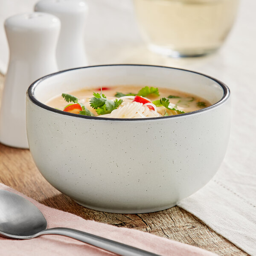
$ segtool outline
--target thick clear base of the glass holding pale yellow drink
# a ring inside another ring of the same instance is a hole
[[[210,54],[212,52],[215,52],[217,48],[212,49],[171,49],[168,47],[161,47],[155,44],[150,44],[148,46],[148,49],[150,49],[152,52],[155,52],[157,54],[165,55],[172,58],[180,58],[180,57],[200,57],[207,54]]]

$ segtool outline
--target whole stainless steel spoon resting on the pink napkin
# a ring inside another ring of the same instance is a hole
[[[25,198],[0,190],[0,236],[32,239],[41,235],[61,235],[91,244],[122,256],[158,256],[126,244],[64,227],[47,228],[44,215]]]

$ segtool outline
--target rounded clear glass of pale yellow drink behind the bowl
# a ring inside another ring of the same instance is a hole
[[[201,55],[227,37],[239,0],[134,0],[138,23],[152,50]]]

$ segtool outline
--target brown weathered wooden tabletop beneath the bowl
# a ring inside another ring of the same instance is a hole
[[[0,75],[0,95],[2,94],[3,80],[4,77]],[[61,194],[42,177],[27,149],[0,144],[0,182],[41,204],[71,212],[87,220],[142,230],[192,244],[218,255],[248,255],[180,207],[144,214],[114,214],[82,207]]]

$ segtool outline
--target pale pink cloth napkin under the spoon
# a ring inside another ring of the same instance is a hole
[[[166,238],[142,232],[140,230],[128,229],[124,227],[114,227],[96,221],[88,221],[68,212],[39,204],[37,201],[26,197],[20,192],[8,186],[0,184],[0,189],[15,192],[35,204],[44,214],[48,228],[69,227],[102,236],[107,239],[119,241],[143,250],[157,253],[162,256],[216,256],[207,250],[198,247],[172,241]],[[105,250],[93,247],[74,239],[64,236],[44,235],[30,240],[14,240],[0,237],[0,255],[4,256],[70,256],[70,255],[90,255],[107,256],[116,255]]]

